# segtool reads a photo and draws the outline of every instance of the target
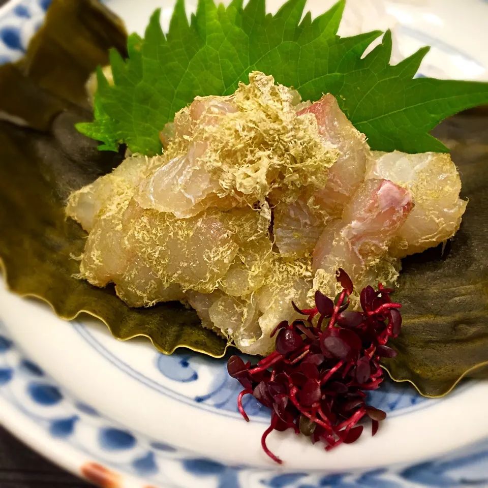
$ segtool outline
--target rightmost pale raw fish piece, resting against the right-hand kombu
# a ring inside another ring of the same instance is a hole
[[[388,178],[410,191],[415,207],[390,252],[404,257],[452,237],[467,202],[459,198],[461,179],[448,154],[374,153],[368,178]]]

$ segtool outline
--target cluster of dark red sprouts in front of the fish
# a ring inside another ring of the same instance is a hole
[[[393,290],[380,283],[377,291],[371,286],[361,291],[362,312],[347,311],[353,284],[343,269],[337,281],[343,290],[335,300],[317,291],[313,309],[300,310],[292,303],[307,323],[305,318],[292,324],[280,322],[271,333],[276,335],[276,351],[255,367],[239,356],[227,363],[229,375],[244,387],[237,396],[242,417],[249,422],[242,407],[246,394],[272,410],[261,445],[280,464],[283,461],[266,446],[273,430],[292,428],[313,443],[321,441],[328,451],[357,441],[363,432],[358,422],[363,418],[371,419],[374,436],[386,417],[382,410],[365,404],[365,391],[377,389],[383,381],[380,358],[396,355],[386,343],[400,333],[402,306],[391,301]]]

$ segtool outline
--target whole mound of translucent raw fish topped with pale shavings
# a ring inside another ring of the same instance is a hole
[[[400,258],[452,237],[466,207],[448,155],[372,153],[334,97],[302,102],[262,73],[197,97],[160,139],[162,155],[70,196],[88,232],[79,277],[131,307],[190,304],[249,354],[299,318],[292,301],[334,295],[339,267],[358,289],[394,285]]]

